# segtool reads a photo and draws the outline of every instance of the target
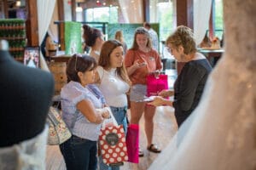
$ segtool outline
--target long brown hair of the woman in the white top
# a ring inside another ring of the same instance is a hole
[[[108,40],[107,42],[104,42],[102,45],[102,51],[100,54],[100,59],[98,65],[101,65],[104,69],[109,69],[110,64],[110,54],[112,54],[113,49],[117,47],[123,47],[122,43],[117,40]],[[127,72],[125,70],[125,65],[123,64],[121,67],[118,67],[117,73],[119,77],[122,78],[125,82],[128,82],[130,84],[129,77],[127,75]]]

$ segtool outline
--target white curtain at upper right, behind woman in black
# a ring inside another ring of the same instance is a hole
[[[196,45],[205,37],[209,26],[212,0],[194,0],[194,36]]]

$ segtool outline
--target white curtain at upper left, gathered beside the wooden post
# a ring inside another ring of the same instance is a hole
[[[38,36],[39,44],[44,40],[44,36],[49,27],[53,10],[55,8],[55,0],[38,0]],[[40,55],[40,66],[43,70],[49,71],[44,60],[43,54]]]

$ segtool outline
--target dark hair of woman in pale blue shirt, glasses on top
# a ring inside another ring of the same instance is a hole
[[[80,82],[78,72],[92,71],[96,68],[96,60],[88,54],[73,54],[67,62],[67,82]]]

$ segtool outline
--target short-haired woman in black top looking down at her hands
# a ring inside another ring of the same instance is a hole
[[[178,127],[186,120],[198,105],[212,67],[203,54],[196,52],[195,39],[189,27],[178,26],[177,30],[167,38],[166,46],[178,62],[185,62],[183,70],[177,76],[172,90],[160,92],[150,105],[171,105],[175,108]],[[174,94],[174,100],[167,97]]]

